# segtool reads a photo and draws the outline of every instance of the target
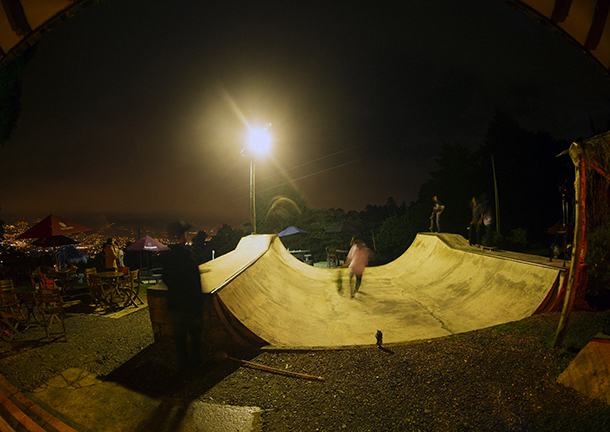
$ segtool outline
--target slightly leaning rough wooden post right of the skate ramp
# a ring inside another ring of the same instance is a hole
[[[572,246],[572,258],[570,260],[570,273],[568,276],[568,285],[566,287],[565,299],[563,302],[563,310],[559,319],[553,348],[561,347],[568,332],[568,322],[570,321],[570,313],[574,305],[574,295],[576,293],[576,282],[580,274],[580,267],[584,261],[585,255],[585,200],[587,183],[585,178],[585,155],[582,148],[573,143],[570,146],[570,157],[574,162],[575,167],[575,199],[576,199],[576,220],[574,221],[574,244]]]

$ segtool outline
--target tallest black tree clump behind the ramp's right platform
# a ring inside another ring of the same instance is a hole
[[[567,146],[547,133],[524,130],[514,117],[498,111],[478,149],[441,146],[439,168],[421,186],[417,202],[431,209],[432,197],[438,196],[445,204],[443,231],[467,236],[472,198],[485,194],[495,210],[495,166],[502,231],[521,228],[529,239],[549,241],[546,231],[560,219],[559,186],[572,176],[568,158],[555,157]]]

